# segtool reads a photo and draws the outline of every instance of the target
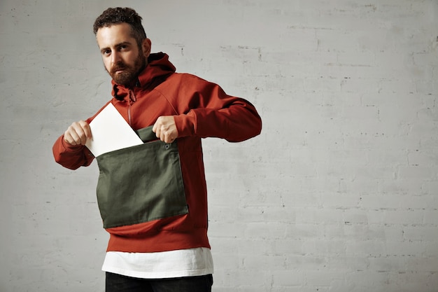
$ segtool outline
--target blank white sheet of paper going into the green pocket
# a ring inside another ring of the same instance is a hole
[[[109,103],[90,123],[92,139],[85,146],[95,157],[122,148],[143,144],[125,118]]]

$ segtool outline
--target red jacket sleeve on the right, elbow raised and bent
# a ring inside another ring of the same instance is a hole
[[[180,137],[218,137],[239,142],[260,134],[262,119],[246,99],[227,95],[219,85],[188,75],[181,90],[188,112],[175,116]]]

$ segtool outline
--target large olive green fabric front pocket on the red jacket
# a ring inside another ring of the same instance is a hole
[[[139,136],[150,132],[150,127],[142,129]],[[104,153],[97,164],[104,228],[188,214],[176,141],[151,141]]]

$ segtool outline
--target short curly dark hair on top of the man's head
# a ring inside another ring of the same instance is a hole
[[[111,27],[120,23],[127,23],[132,29],[132,36],[140,44],[146,39],[146,32],[141,25],[141,16],[132,8],[108,8],[96,20],[93,25],[93,32],[97,34],[97,30],[101,27]]]

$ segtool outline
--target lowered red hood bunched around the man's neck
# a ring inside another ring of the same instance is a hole
[[[169,55],[165,53],[153,53],[148,57],[148,66],[141,71],[136,87],[153,89],[164,81],[167,76],[175,72],[174,64],[169,61]],[[111,81],[113,91],[111,95],[120,101],[127,100],[129,88]]]

